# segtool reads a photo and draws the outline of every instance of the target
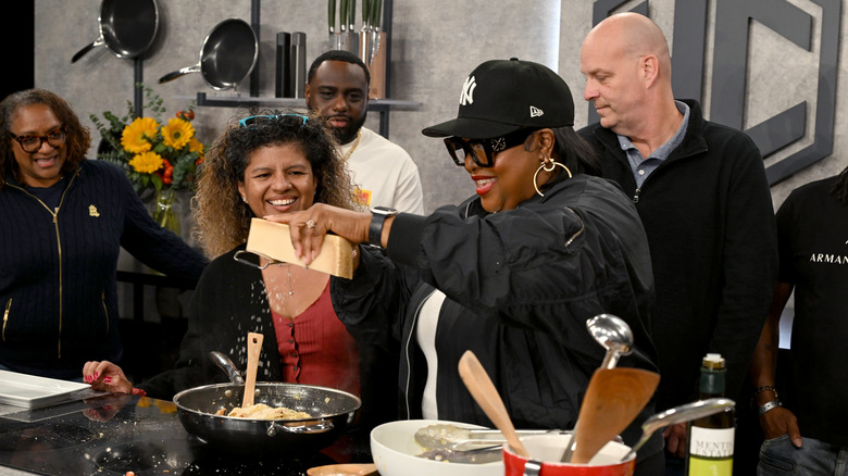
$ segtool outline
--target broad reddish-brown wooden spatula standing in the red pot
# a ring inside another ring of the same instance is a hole
[[[599,368],[589,380],[574,426],[571,462],[586,464],[621,434],[653,396],[660,375],[641,368]]]

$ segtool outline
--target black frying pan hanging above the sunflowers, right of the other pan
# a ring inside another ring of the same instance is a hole
[[[199,72],[212,89],[235,89],[253,71],[258,55],[259,41],[253,28],[244,20],[224,20],[203,40],[198,64],[169,73],[159,78],[159,84]]]

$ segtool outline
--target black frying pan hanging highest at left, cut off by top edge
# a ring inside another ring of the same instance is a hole
[[[77,51],[72,63],[101,45],[117,58],[140,55],[157,37],[159,9],[155,0],[103,0],[98,23],[100,37]]]

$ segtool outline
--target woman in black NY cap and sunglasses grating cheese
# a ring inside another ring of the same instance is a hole
[[[657,371],[645,231],[629,199],[594,176],[598,162],[573,121],[571,91],[548,67],[488,61],[465,79],[458,117],[424,129],[447,137],[474,197],[429,216],[315,204],[269,217],[290,225],[305,263],[328,231],[370,245],[352,279],[331,279],[333,303],[354,335],[400,343],[402,417],[490,426],[459,376],[471,350],[516,427],[573,428],[604,356],[586,329],[601,313],[634,334],[620,365]],[[652,413],[650,403],[626,442]],[[658,474],[662,438],[638,458],[640,473]]]

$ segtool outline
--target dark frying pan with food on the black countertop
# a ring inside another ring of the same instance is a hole
[[[214,384],[184,390],[174,396],[179,421],[190,435],[222,451],[250,455],[303,453],[319,451],[338,439],[362,403],[353,394],[326,387],[257,383],[255,403],[286,406],[313,417],[250,419],[215,414],[221,409],[229,413],[241,406],[244,390],[244,384]]]

